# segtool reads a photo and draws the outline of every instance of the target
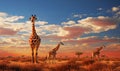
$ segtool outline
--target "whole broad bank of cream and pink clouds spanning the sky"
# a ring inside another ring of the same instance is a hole
[[[77,16],[77,15],[76,15]],[[24,19],[24,16],[11,16],[7,13],[0,12],[0,35],[2,35],[0,44],[4,46],[25,47],[29,46],[28,38],[31,35],[32,24],[30,21],[19,22]],[[36,21],[35,28],[37,34],[42,39],[43,46],[54,44],[59,41],[64,41],[67,47],[74,44],[75,47],[86,47],[98,43],[116,43],[119,39],[104,37],[103,39],[97,36],[81,37],[84,34],[101,33],[115,29],[116,23],[110,17],[98,16],[87,17],[77,21],[70,20],[58,24],[50,24],[47,21]],[[7,35],[4,37],[4,35]],[[19,41],[19,42],[17,42]],[[5,45],[6,44],[6,45]],[[73,45],[73,47],[74,47]],[[52,47],[52,46],[51,46]],[[68,48],[63,48],[67,50]],[[84,49],[84,48],[81,48]],[[49,50],[49,49],[48,49]],[[69,50],[72,51],[72,48]],[[77,50],[77,49],[76,49]]]

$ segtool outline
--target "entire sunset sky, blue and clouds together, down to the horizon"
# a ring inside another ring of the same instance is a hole
[[[1,55],[31,54],[32,14],[37,16],[41,56],[60,41],[65,44],[58,50],[61,56],[90,54],[102,45],[106,55],[120,54],[120,0],[0,0]]]

